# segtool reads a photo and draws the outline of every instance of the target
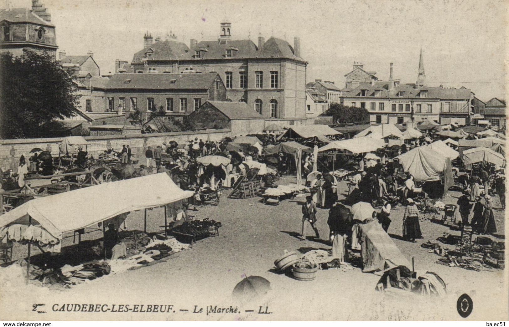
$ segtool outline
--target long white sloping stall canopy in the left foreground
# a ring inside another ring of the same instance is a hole
[[[0,227],[26,223],[30,215],[57,239],[130,211],[148,209],[192,196],[166,173],[103,183],[30,200],[0,216]]]

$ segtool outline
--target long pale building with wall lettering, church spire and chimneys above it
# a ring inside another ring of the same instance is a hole
[[[356,70],[360,71],[359,68]],[[347,84],[347,89],[343,90],[342,104],[365,108],[370,113],[372,123],[404,124],[412,119],[415,122],[428,120],[440,124],[470,123],[471,91],[464,87],[426,86],[422,51],[415,83],[402,84],[399,79],[393,79],[392,63],[388,81],[378,80],[374,73],[370,79],[350,91]]]

